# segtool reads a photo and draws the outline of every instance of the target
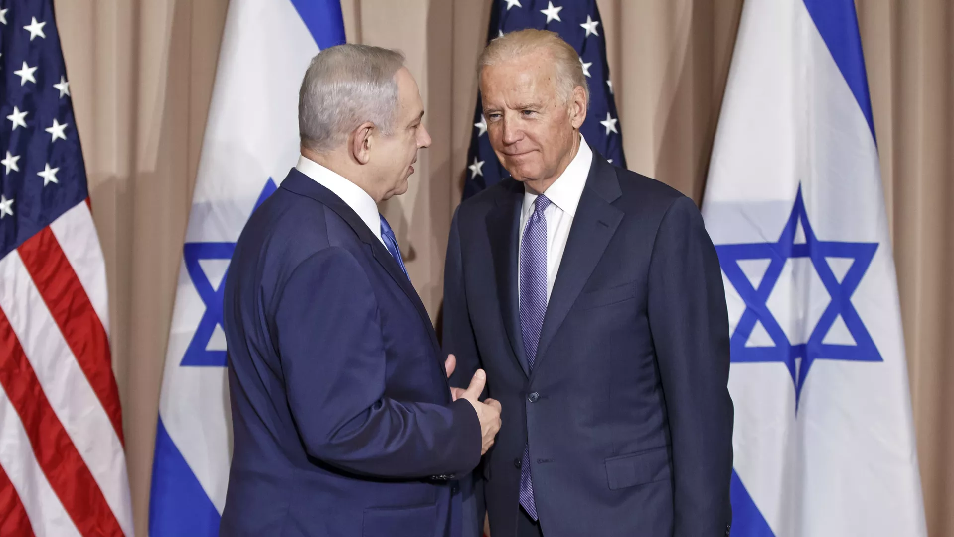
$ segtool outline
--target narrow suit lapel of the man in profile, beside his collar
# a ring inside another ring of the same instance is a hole
[[[437,334],[434,333],[434,325],[430,322],[430,315],[427,314],[424,303],[421,302],[421,297],[418,296],[417,291],[414,290],[414,286],[411,285],[410,280],[404,275],[404,270],[402,270],[398,262],[391,257],[390,252],[388,252],[384,244],[378,240],[378,237],[367,228],[367,225],[364,224],[364,221],[358,216],[358,213],[348,206],[348,204],[345,204],[342,199],[333,192],[321,186],[321,184],[312,181],[311,178],[297,169],[293,168],[292,171],[289,172],[288,177],[281,182],[281,187],[321,202],[321,204],[342,217],[342,220],[346,222],[348,226],[351,226],[358,235],[358,238],[371,248],[375,260],[384,267],[391,276],[391,279],[393,279],[394,282],[398,284],[398,287],[404,291],[404,294],[407,295],[408,300],[414,304],[414,308],[417,309],[427,327],[427,333],[430,334],[431,345],[434,346],[434,349],[438,351],[438,355],[440,355],[441,347],[437,342]],[[441,367],[444,367],[443,362]]]

